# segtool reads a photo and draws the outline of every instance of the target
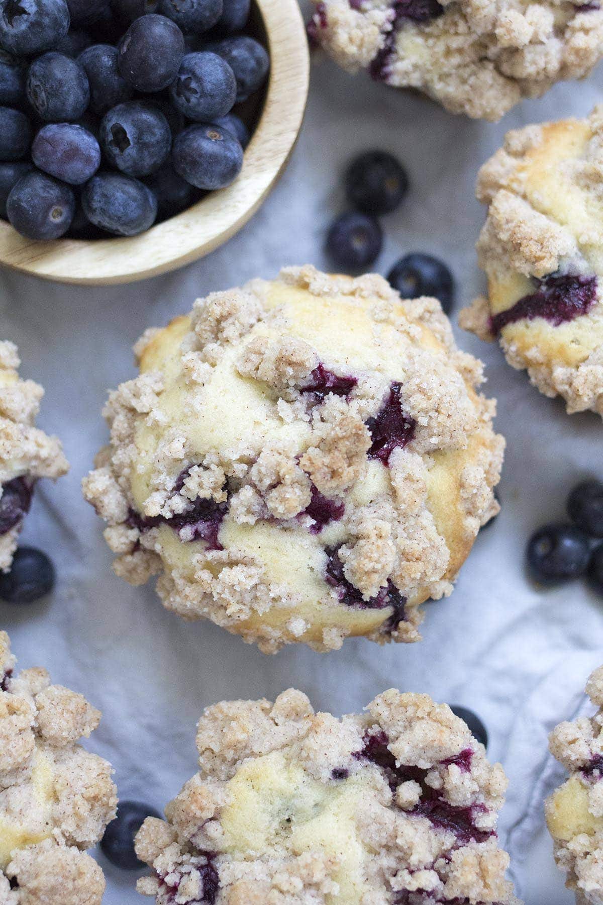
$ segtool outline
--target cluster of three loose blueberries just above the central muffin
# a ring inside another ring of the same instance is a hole
[[[409,177],[400,161],[386,151],[365,151],[354,157],[344,175],[345,197],[352,211],[338,216],[326,237],[326,251],[336,267],[365,271],[382,251],[383,231],[377,219],[400,207]],[[446,264],[430,254],[412,252],[400,258],[387,276],[402,299],[428,295],[452,310],[454,281]]]

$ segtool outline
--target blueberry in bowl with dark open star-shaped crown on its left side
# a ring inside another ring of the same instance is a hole
[[[148,176],[172,147],[164,114],[151,104],[128,100],[109,110],[100,124],[100,145],[108,162],[127,176]]]

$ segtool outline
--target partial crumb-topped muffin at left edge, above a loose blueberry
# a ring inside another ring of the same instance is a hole
[[[33,426],[44,391],[21,380],[17,348],[0,342],[0,569],[10,568],[38,478],[59,478],[69,466],[61,443]]]

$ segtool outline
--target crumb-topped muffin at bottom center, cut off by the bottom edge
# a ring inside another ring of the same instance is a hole
[[[289,689],[208,708],[196,741],[199,773],[137,834],[157,905],[519,905],[503,767],[447,704],[391,689],[335,719]]]

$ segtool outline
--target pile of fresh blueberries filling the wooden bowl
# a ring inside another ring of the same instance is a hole
[[[250,0],[0,0],[0,215],[29,239],[136,235],[231,185],[249,141],[232,108],[269,71],[249,15]]]

